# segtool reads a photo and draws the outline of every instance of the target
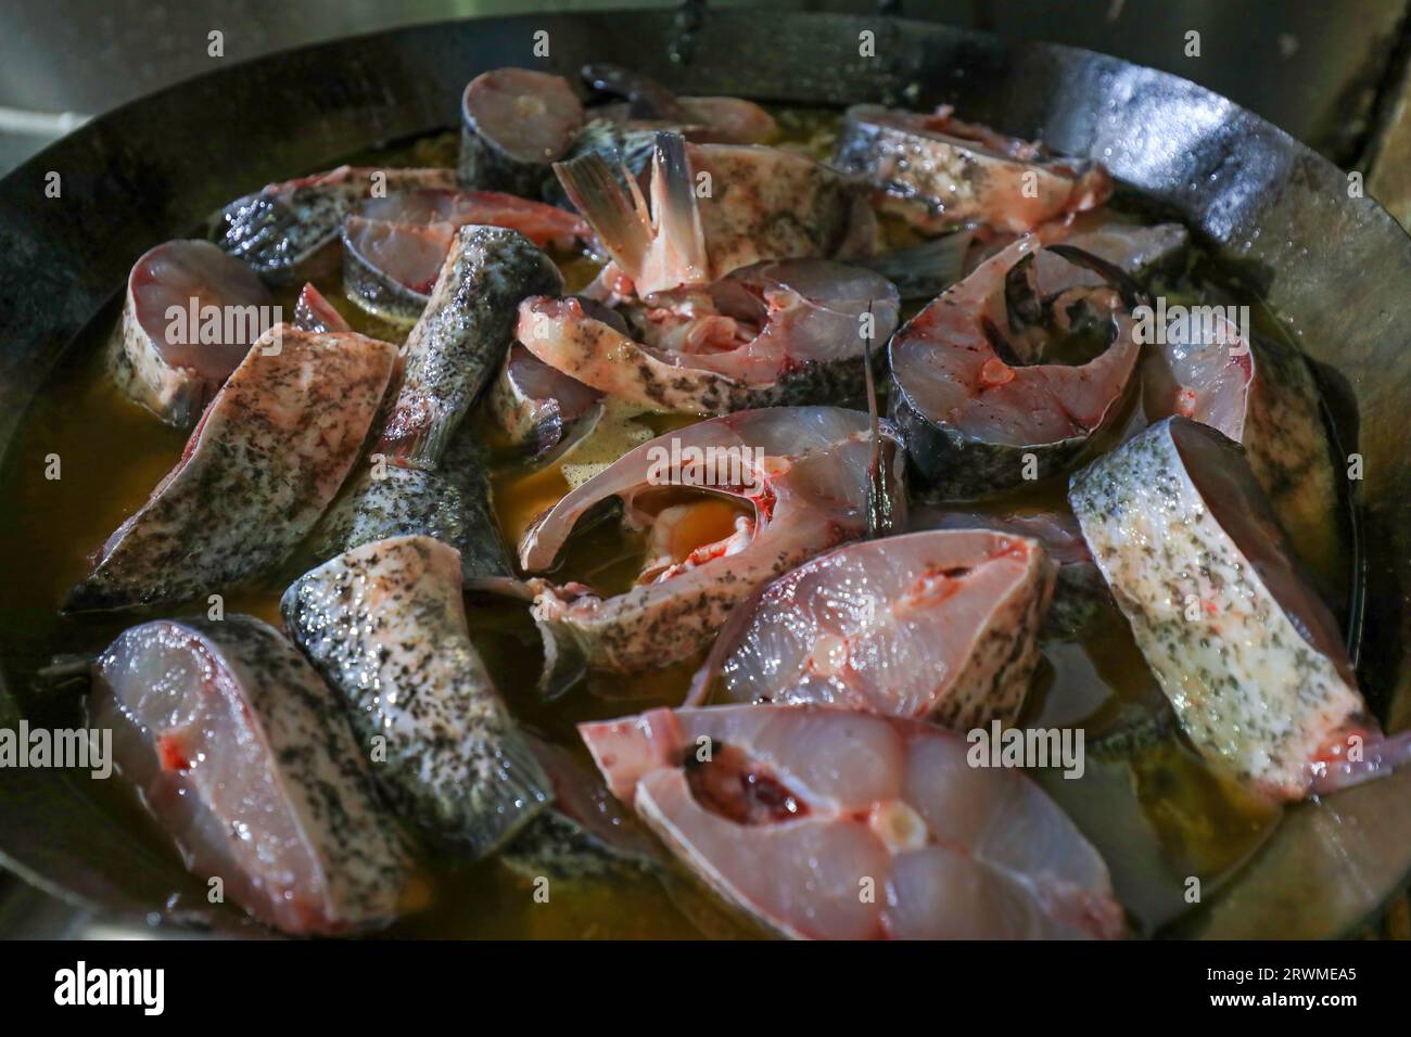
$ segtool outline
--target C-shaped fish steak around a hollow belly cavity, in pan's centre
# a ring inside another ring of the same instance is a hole
[[[762,509],[768,518],[742,550],[608,598],[577,584],[557,587],[549,580],[531,580],[535,619],[570,635],[597,669],[634,673],[684,659],[711,641],[731,608],[755,587],[866,532],[872,456],[868,429],[868,416],[858,411],[769,408],[701,422],[634,449],[564,497],[525,533],[519,545],[525,571],[549,569],[573,525],[593,504],[608,497],[631,498],[649,488],[648,459],[653,449],[669,450],[673,437],[684,446],[762,450],[765,466],[773,466],[762,488],[715,490],[753,502],[756,521]],[[882,435],[883,450],[899,451],[889,426],[883,425]],[[889,466],[890,490],[904,514],[899,468]]]

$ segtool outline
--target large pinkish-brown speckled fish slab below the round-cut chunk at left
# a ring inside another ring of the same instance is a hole
[[[205,597],[284,562],[351,470],[395,360],[361,334],[271,329],[63,611]]]

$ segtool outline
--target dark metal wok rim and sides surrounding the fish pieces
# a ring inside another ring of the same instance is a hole
[[[547,59],[533,54],[538,31]],[[859,56],[864,31],[875,34],[875,58]],[[673,14],[632,11],[428,25],[212,72],[95,120],[0,181],[0,450],[65,347],[154,243],[264,182],[454,124],[461,87],[484,69],[573,75],[587,61],[631,65],[689,93],[952,102],[967,119],[1101,159],[1178,212],[1245,265],[1336,372],[1343,446],[1364,468],[1360,676],[1384,720],[1395,724],[1398,707],[1407,715],[1411,238],[1356,196],[1348,175],[1268,123],[1175,76],[1086,51],[885,16],[765,11],[711,13],[683,38]],[[45,195],[51,171],[61,199]],[[14,721],[13,693],[0,684],[0,725]],[[169,917],[168,895],[186,880],[83,784],[61,770],[0,769],[0,862],[87,907]],[[1239,878],[1170,931],[1336,935],[1401,890],[1408,872],[1404,770],[1291,810]]]

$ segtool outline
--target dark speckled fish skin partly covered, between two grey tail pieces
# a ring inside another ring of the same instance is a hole
[[[490,473],[473,432],[461,426],[435,470],[370,459],[309,536],[315,559],[394,536],[430,536],[460,554],[467,588],[515,581],[490,501]]]

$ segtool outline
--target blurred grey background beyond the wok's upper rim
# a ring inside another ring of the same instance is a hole
[[[4,0],[0,174],[87,116],[199,75],[214,61],[392,25],[535,10],[672,7],[642,0]],[[875,13],[1088,47],[1194,79],[1345,166],[1411,162],[1408,0],[715,0],[710,7]],[[629,17],[629,16],[626,16]],[[206,34],[224,34],[210,58]],[[1201,34],[1187,58],[1185,34]],[[1398,133],[1384,140],[1384,131]],[[1395,161],[1391,161],[1395,157]],[[1393,205],[1401,183],[1374,171]],[[1401,178],[1407,179],[1407,178]],[[1376,193],[1376,189],[1374,192]],[[1411,216],[1411,190],[1401,214]]]

